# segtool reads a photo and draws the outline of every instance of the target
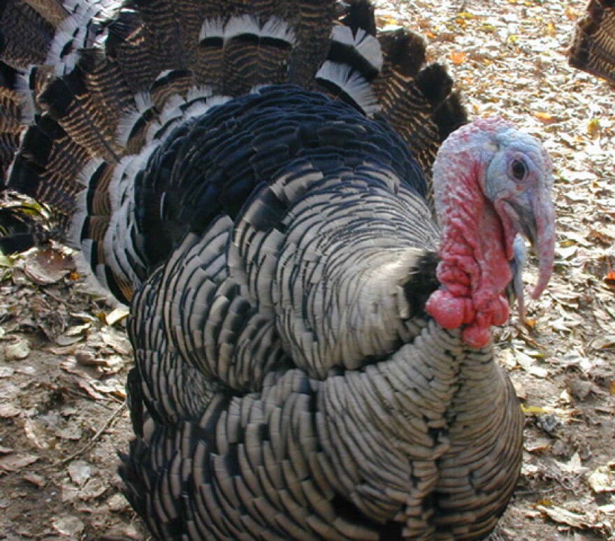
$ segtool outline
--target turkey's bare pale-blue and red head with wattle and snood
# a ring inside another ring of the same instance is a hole
[[[427,311],[446,329],[465,324],[471,347],[489,342],[508,317],[514,238],[530,240],[540,260],[537,298],[553,271],[555,231],[551,161],[538,140],[500,118],[476,120],[442,145],[433,166],[442,228],[437,277]]]

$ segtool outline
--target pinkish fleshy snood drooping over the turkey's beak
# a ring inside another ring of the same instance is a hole
[[[549,283],[555,259],[555,210],[547,187],[537,190],[532,212],[521,215],[521,226],[539,261],[538,282],[532,291],[532,298],[538,298]]]

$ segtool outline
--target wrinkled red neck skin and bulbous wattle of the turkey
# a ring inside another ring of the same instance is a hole
[[[479,186],[479,168],[475,164],[450,183],[440,216],[437,278],[442,286],[426,304],[444,329],[464,324],[462,339],[476,348],[489,343],[492,325],[507,321],[504,291],[512,278],[502,222]]]

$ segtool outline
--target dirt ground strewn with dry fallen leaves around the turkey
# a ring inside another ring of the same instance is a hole
[[[526,322],[498,331],[526,413],[498,538],[615,540],[615,92],[567,66],[584,3],[376,2],[379,24],[428,38],[473,115],[509,118],[554,161],[556,273]],[[131,437],[125,310],[57,252],[2,265],[0,539],[147,539],[116,474]]]

